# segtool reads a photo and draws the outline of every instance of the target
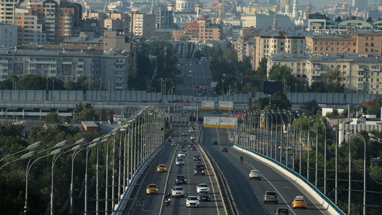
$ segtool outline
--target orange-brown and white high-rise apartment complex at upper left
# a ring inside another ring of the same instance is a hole
[[[12,16],[19,44],[59,44],[79,34],[82,6],[67,0],[24,1],[15,5]]]

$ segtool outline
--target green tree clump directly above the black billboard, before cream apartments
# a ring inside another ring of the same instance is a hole
[[[296,91],[296,86],[298,92],[303,89],[302,82],[292,74],[291,68],[286,65],[273,65],[269,71],[268,79],[272,81],[281,81],[283,82],[283,85],[285,80],[287,89],[288,91],[290,89],[291,92]]]

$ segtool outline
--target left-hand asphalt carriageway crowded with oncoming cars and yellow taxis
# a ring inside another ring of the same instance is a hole
[[[189,133],[189,127],[176,127],[176,132],[171,137],[172,141],[176,143],[183,142],[183,140],[188,140],[190,142],[191,135],[197,136],[196,132]],[[183,131],[187,132],[187,136],[182,136]],[[159,187],[158,194],[146,194],[147,185],[135,186],[133,195],[131,198],[147,198],[146,200],[133,200],[129,201],[127,210],[137,209],[139,211],[130,211],[129,215],[140,214],[140,215],[186,215],[186,214],[197,214],[197,215],[223,215],[224,208],[220,198],[219,190],[211,167],[205,161],[204,155],[199,151],[197,146],[196,151],[191,151],[188,147],[187,156],[185,157],[184,166],[176,166],[175,158],[178,156],[178,152],[182,150],[179,146],[171,146],[171,142],[166,143],[166,148],[164,149],[160,161],[156,161],[156,165],[148,168],[146,172],[152,174],[146,174],[141,176],[139,184],[156,184]],[[193,175],[193,160],[194,155],[201,155],[202,162],[207,165],[207,173],[205,176]],[[156,166],[159,164],[165,164],[168,171],[167,172],[156,172]],[[187,184],[175,185],[175,178],[178,174],[184,174],[187,177]],[[196,196],[196,186],[198,184],[208,184],[210,186],[211,202],[200,202],[200,208],[186,208],[185,199],[187,196]],[[185,197],[173,197],[171,198],[171,204],[168,207],[164,205],[164,194],[170,193],[174,186],[182,186],[185,190]]]

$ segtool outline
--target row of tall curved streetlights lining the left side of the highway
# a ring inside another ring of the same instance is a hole
[[[127,174],[126,172],[129,171],[129,167],[132,166],[129,164],[132,164],[134,161],[134,166],[130,168],[131,172],[136,172],[138,169],[138,166],[142,163],[144,159],[146,159],[149,154],[151,154],[154,150],[156,150],[164,141],[164,128],[165,128],[165,121],[166,117],[168,116],[167,113],[165,113],[163,110],[160,110],[159,108],[153,108],[153,107],[147,107],[144,108],[137,113],[133,114],[128,120],[124,122],[124,124],[120,125],[118,128],[113,129],[109,133],[103,135],[102,137],[96,138],[92,140],[91,142],[87,142],[85,138],[76,141],[75,144],[69,144],[68,141],[62,141],[58,144],[56,144],[54,147],[51,147],[49,149],[41,150],[44,147],[44,144],[39,141],[36,142],[30,146],[28,146],[26,149],[18,151],[16,153],[7,155],[4,157],[4,152],[0,150],[0,163],[9,157],[12,157],[17,154],[21,154],[22,152],[29,151],[25,154],[23,154],[20,158],[17,158],[15,160],[12,160],[8,163],[3,164],[0,167],[0,170],[10,164],[14,163],[19,160],[26,160],[29,159],[28,165],[26,167],[26,186],[25,186],[25,205],[24,205],[24,213],[27,213],[29,210],[29,192],[28,192],[28,175],[30,172],[30,169],[32,165],[37,162],[38,160],[41,160],[44,157],[53,155],[52,159],[52,185],[51,185],[51,201],[50,201],[50,214],[54,215],[55,210],[55,191],[54,191],[54,165],[58,158],[64,154],[73,152],[72,154],[72,172],[71,172],[71,185],[70,185],[70,214],[74,214],[74,183],[73,183],[73,173],[74,173],[74,159],[76,155],[80,151],[86,150],[86,166],[85,166],[85,215],[88,214],[88,177],[87,177],[87,167],[88,167],[88,153],[89,151],[96,147],[97,148],[97,166],[96,166],[96,177],[97,177],[97,188],[96,188],[96,212],[97,215],[99,215],[99,207],[100,207],[100,199],[99,199],[99,163],[98,163],[98,146],[100,143],[107,142],[107,154],[106,154],[106,214],[108,212],[108,145],[111,140],[111,137],[114,137],[114,146],[113,146],[113,174],[112,174],[112,206],[114,206],[115,201],[115,186],[118,186],[118,195],[122,193],[121,187],[125,190],[128,184],[128,181],[131,179],[132,174]],[[138,123],[138,125],[137,125]],[[121,133],[121,139],[120,139],[120,151],[124,150],[124,153],[120,153],[120,168],[119,168],[119,176],[118,176],[118,185],[115,185],[115,137],[118,134],[118,132]],[[128,135],[127,135],[128,134]],[[139,137],[139,135],[144,135],[144,137]],[[125,141],[124,144],[122,144],[122,136],[124,136]],[[128,136],[128,137],[127,137]],[[134,138],[133,138],[134,137]],[[140,139],[139,139],[140,138]],[[140,145],[137,147],[137,140],[140,140]],[[127,147],[126,147],[127,146]],[[131,146],[131,147],[130,147]],[[134,146],[134,147],[133,147]],[[131,148],[131,149],[129,149]],[[138,150],[138,148],[140,148]],[[144,149],[143,149],[144,148]],[[67,151],[65,151],[67,149]],[[53,150],[53,151],[51,151]],[[38,152],[39,151],[39,152]],[[130,151],[134,151],[134,153],[130,153]],[[45,153],[43,153],[45,152]],[[40,156],[40,154],[45,154],[43,156]],[[122,158],[123,156],[123,158]],[[35,159],[37,158],[37,159]],[[34,160],[35,159],[35,160]],[[121,182],[121,162],[122,159],[124,160],[123,165],[123,180]],[[139,160],[138,160],[139,159]],[[139,161],[139,162],[138,162]],[[131,175],[131,177],[130,177]],[[126,178],[127,176],[127,178]],[[117,198],[118,199],[118,198]]]

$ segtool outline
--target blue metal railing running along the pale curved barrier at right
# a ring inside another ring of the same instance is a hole
[[[273,163],[275,163],[277,166],[283,168],[284,170],[292,173],[294,176],[296,176],[297,178],[299,178],[300,180],[302,180],[303,182],[305,182],[312,190],[314,190],[324,201],[326,201],[330,206],[332,206],[332,208],[337,212],[339,213],[340,215],[346,215],[345,212],[343,212],[332,200],[330,200],[325,194],[323,194],[321,191],[318,190],[318,188],[316,186],[314,186],[312,183],[310,183],[310,181],[308,181],[305,177],[303,177],[302,175],[298,174],[297,172],[293,171],[292,169],[290,169],[289,167],[281,164],[280,162],[276,161],[275,159],[273,158],[270,158],[270,157],[267,157],[263,154],[260,154],[256,151],[253,151],[253,150],[250,150],[248,148],[245,148],[245,147],[242,147],[242,146],[239,146],[237,144],[233,144],[233,146],[236,146],[240,149],[243,149],[243,150],[246,150],[246,151],[250,151],[252,153],[255,153],[256,155],[264,158],[264,159],[267,159]]]

